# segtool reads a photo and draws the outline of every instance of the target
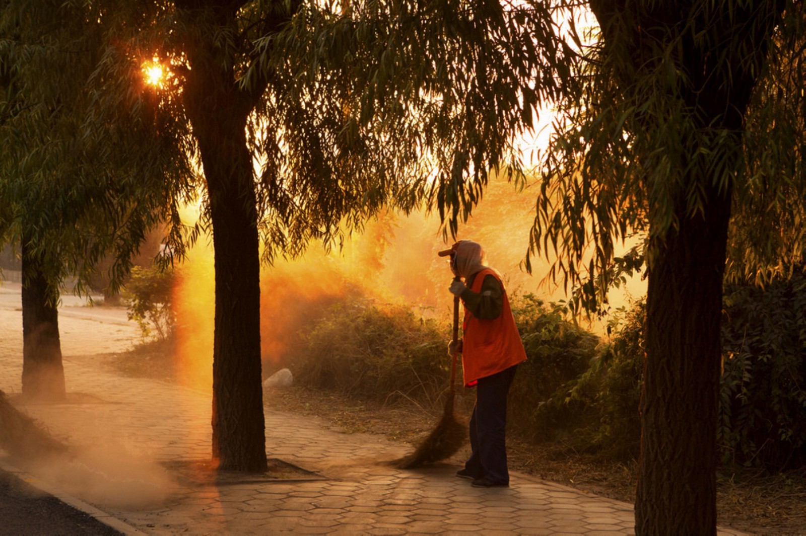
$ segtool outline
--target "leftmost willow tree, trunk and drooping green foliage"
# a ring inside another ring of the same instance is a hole
[[[119,284],[147,231],[175,212],[179,195],[164,179],[176,170],[153,144],[131,142],[142,122],[88,115],[102,52],[98,9],[0,6],[0,243],[19,245],[22,258],[23,394],[52,401],[65,394],[57,311],[65,278],[85,292],[111,256],[110,281]],[[156,175],[139,159],[164,165]]]

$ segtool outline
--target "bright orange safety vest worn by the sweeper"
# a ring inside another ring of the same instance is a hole
[[[480,293],[484,278],[488,275],[501,283],[501,278],[495,271],[485,268],[476,274],[470,290]],[[503,283],[501,289],[504,289]],[[477,319],[467,307],[464,308],[462,369],[465,387],[475,386],[480,377],[492,376],[526,361],[526,350],[523,349],[521,336],[517,332],[505,290],[503,294],[504,307],[498,318]]]

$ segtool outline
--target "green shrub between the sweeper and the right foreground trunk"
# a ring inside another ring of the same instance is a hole
[[[563,320],[559,306],[538,307],[535,313],[531,325],[521,327],[533,361],[527,369],[534,377],[531,385],[522,386],[521,396],[544,393],[532,414],[534,434],[571,439],[580,451],[605,451],[620,459],[637,456],[644,304],[611,320],[615,334],[609,344],[599,344],[592,333]]]

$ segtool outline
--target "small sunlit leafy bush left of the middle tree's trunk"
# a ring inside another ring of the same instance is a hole
[[[140,268],[131,270],[124,297],[128,301],[129,320],[135,320],[143,339],[156,334],[157,340],[169,340],[176,326],[172,309],[173,270]]]

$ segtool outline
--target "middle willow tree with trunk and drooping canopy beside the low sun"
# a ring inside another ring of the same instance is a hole
[[[171,75],[156,114],[204,171],[213,454],[219,468],[263,471],[260,241],[271,262],[429,196],[457,216],[453,200],[480,197],[555,94],[563,49],[536,2],[141,0],[114,17],[97,76],[107,98],[159,58]]]

